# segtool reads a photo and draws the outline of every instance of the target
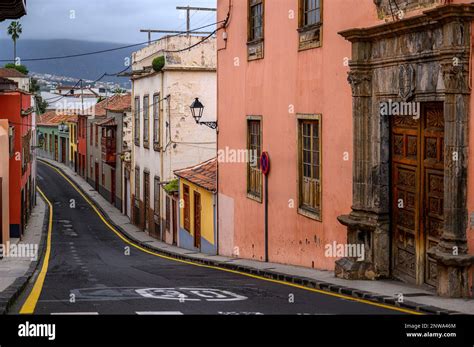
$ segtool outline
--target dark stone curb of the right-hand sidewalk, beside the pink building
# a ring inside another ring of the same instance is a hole
[[[196,264],[209,265],[209,266],[219,267],[219,268],[223,268],[227,270],[244,272],[250,275],[256,275],[256,276],[261,276],[261,277],[265,277],[272,280],[288,282],[288,283],[308,287],[311,289],[318,289],[325,292],[347,295],[347,296],[357,298],[357,299],[364,299],[364,300],[371,301],[374,303],[385,304],[385,305],[390,305],[390,306],[399,307],[399,308],[406,308],[406,309],[417,311],[424,314],[463,315],[463,313],[460,313],[457,311],[451,311],[451,310],[434,307],[430,305],[419,304],[412,301],[398,302],[398,298],[396,297],[384,296],[384,295],[380,295],[373,292],[362,291],[360,289],[354,289],[350,287],[336,285],[330,282],[318,281],[318,280],[308,278],[308,277],[288,275],[288,274],[279,273],[279,272],[271,271],[271,270],[259,270],[250,266],[232,264],[229,262],[222,262],[222,261],[210,260],[210,259],[201,259],[201,258],[191,257],[191,256],[153,247],[151,245],[148,245],[147,243],[143,243],[142,241],[136,239],[132,235],[128,234],[125,230],[123,230],[120,226],[116,225],[115,222],[111,220],[109,215],[103,210],[103,208],[95,201],[95,199],[88,192],[84,191],[84,189],[75,182],[74,178],[69,173],[65,172],[62,168],[56,166],[55,164],[52,164],[50,162],[47,162],[47,163],[54,166],[56,169],[61,171],[65,176],[71,179],[75,183],[76,187],[84,195],[89,197],[91,202],[102,213],[104,218],[111,225],[113,225],[125,238],[127,238],[133,243],[149,251],[152,251],[164,256],[168,256],[170,258],[178,259],[178,260],[185,260],[185,261],[190,261]],[[237,260],[237,258],[235,258],[235,260]]]

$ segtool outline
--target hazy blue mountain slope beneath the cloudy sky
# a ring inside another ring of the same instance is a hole
[[[56,57],[72,54],[82,54],[94,51],[114,49],[127,44],[110,42],[92,42],[83,40],[51,39],[51,40],[22,40],[17,41],[17,55],[22,59]],[[60,76],[96,80],[104,72],[117,73],[126,68],[125,59],[140,46],[117,51],[46,61],[23,61],[31,72],[48,73]],[[9,39],[0,40],[0,60],[12,59],[13,42]],[[3,66],[5,62],[0,62]],[[102,81],[128,84],[124,77],[105,77]]]

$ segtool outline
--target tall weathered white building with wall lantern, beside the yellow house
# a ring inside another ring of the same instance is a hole
[[[158,57],[164,66],[153,69]],[[177,244],[177,192],[165,188],[173,185],[175,170],[216,156],[216,130],[196,124],[189,107],[199,98],[201,121],[216,119],[216,40],[165,37],[135,52],[132,62],[132,221]]]

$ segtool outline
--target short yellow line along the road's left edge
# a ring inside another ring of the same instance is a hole
[[[43,191],[39,187],[36,187],[36,189],[49,205],[49,223],[48,223],[48,236],[47,236],[47,241],[46,241],[46,253],[44,256],[44,261],[43,261],[43,266],[41,267],[41,271],[38,274],[38,278],[36,279],[36,282],[33,286],[33,289],[31,290],[30,295],[28,296],[28,298],[26,299],[25,303],[23,304],[20,310],[20,314],[33,314],[35,312],[36,304],[41,295],[41,291],[43,290],[44,280],[46,278],[46,273],[48,272],[49,257],[51,255],[51,233],[53,230],[53,204],[51,204],[51,202],[48,200],[46,195],[43,193]]]

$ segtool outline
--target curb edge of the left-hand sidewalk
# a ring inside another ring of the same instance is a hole
[[[18,277],[15,282],[0,293],[0,315],[6,315],[9,313],[10,308],[26,289],[31,278],[43,261],[44,253],[46,251],[46,235],[48,234],[50,209],[48,203],[44,200],[41,194],[37,194],[37,197],[40,197],[45,205],[45,217],[43,220],[41,239],[38,246],[38,260],[32,261],[26,273],[23,276]]]

